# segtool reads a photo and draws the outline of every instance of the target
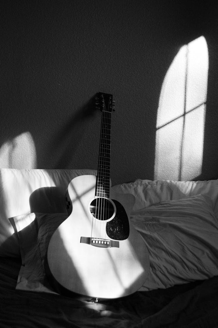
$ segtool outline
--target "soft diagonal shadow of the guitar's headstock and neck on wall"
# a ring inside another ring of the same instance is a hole
[[[82,128],[83,123],[89,117],[95,115],[99,110],[96,108],[97,93],[94,94],[89,101],[81,106],[78,110],[74,110],[70,120],[66,121],[64,127],[57,131],[56,136],[53,138],[52,153],[61,154],[61,158],[55,164],[55,168],[68,167],[69,154],[73,154],[75,148],[78,146],[78,140],[84,133]]]

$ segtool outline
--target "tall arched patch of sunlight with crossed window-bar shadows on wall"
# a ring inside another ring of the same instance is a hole
[[[183,46],[165,76],[157,113],[154,179],[201,174],[208,84],[203,36]]]

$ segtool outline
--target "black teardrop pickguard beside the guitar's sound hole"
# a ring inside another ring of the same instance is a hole
[[[129,219],[124,207],[117,200],[112,200],[116,206],[116,215],[107,222],[106,232],[111,239],[125,240],[129,237]]]

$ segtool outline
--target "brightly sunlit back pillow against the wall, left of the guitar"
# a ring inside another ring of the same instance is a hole
[[[65,211],[69,182],[95,170],[0,169],[0,256],[19,256],[19,246],[8,218],[30,212]]]

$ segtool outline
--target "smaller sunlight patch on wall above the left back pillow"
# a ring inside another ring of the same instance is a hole
[[[0,167],[36,169],[36,148],[30,132],[24,132],[5,142],[0,148]]]

